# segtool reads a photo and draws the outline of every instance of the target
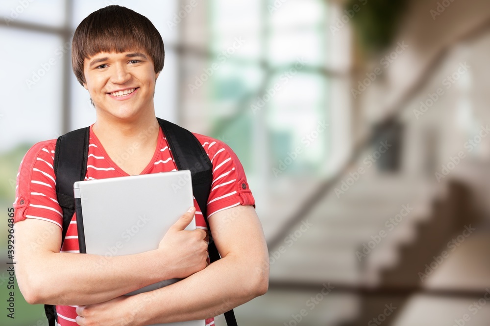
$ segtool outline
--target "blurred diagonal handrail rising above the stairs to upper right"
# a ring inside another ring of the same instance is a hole
[[[430,81],[429,77],[433,75],[443,64],[443,59],[445,59],[450,50],[456,45],[463,41],[470,41],[475,39],[485,32],[490,30],[490,16],[483,20],[482,23],[477,24],[476,27],[470,29],[466,33],[455,37],[452,41],[447,44],[441,46],[439,52],[433,57],[433,59],[427,65],[427,68],[424,72],[422,72],[421,76],[414,82],[413,86],[408,89],[405,94],[403,94],[398,101],[398,103],[393,104],[391,107],[388,107],[386,112],[393,112],[388,117],[382,119],[381,124],[384,126],[393,125],[396,122],[399,115],[401,115],[405,107],[410,101],[417,96],[417,94],[423,90],[423,88]],[[301,219],[308,214],[313,208],[319,203],[319,201],[328,193],[328,191],[333,188],[334,185],[337,184],[338,181],[341,180],[341,177],[345,175],[349,171],[349,168],[352,164],[356,162],[359,156],[363,153],[363,151],[372,143],[373,140],[376,139],[377,133],[371,132],[371,134],[365,139],[361,140],[352,151],[352,155],[349,160],[343,165],[343,167],[335,174],[334,177],[324,181],[317,190],[313,193],[313,195],[306,199],[305,202],[301,205],[301,207],[289,218],[288,222],[281,228],[281,230],[267,243],[269,250],[275,248],[279,245],[284,237],[290,232],[290,230],[301,221]]]

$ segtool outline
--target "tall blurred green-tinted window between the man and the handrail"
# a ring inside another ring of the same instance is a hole
[[[330,138],[322,127],[327,9],[319,0],[210,1],[208,66],[218,65],[207,94],[212,136],[228,140],[247,172],[322,172]]]

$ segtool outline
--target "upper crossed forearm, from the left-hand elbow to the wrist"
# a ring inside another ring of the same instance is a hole
[[[22,293],[30,303],[100,303],[163,279],[156,251],[130,256],[49,253],[17,262]]]

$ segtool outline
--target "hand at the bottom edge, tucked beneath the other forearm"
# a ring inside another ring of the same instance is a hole
[[[112,300],[79,305],[76,307],[76,324],[80,326],[136,326],[139,307],[131,303],[131,296],[121,296]]]

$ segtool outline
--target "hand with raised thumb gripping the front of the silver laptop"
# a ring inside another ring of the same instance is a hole
[[[169,261],[172,278],[186,278],[207,266],[207,233],[202,229],[184,230],[191,223],[196,209],[191,207],[165,233],[158,249]]]

